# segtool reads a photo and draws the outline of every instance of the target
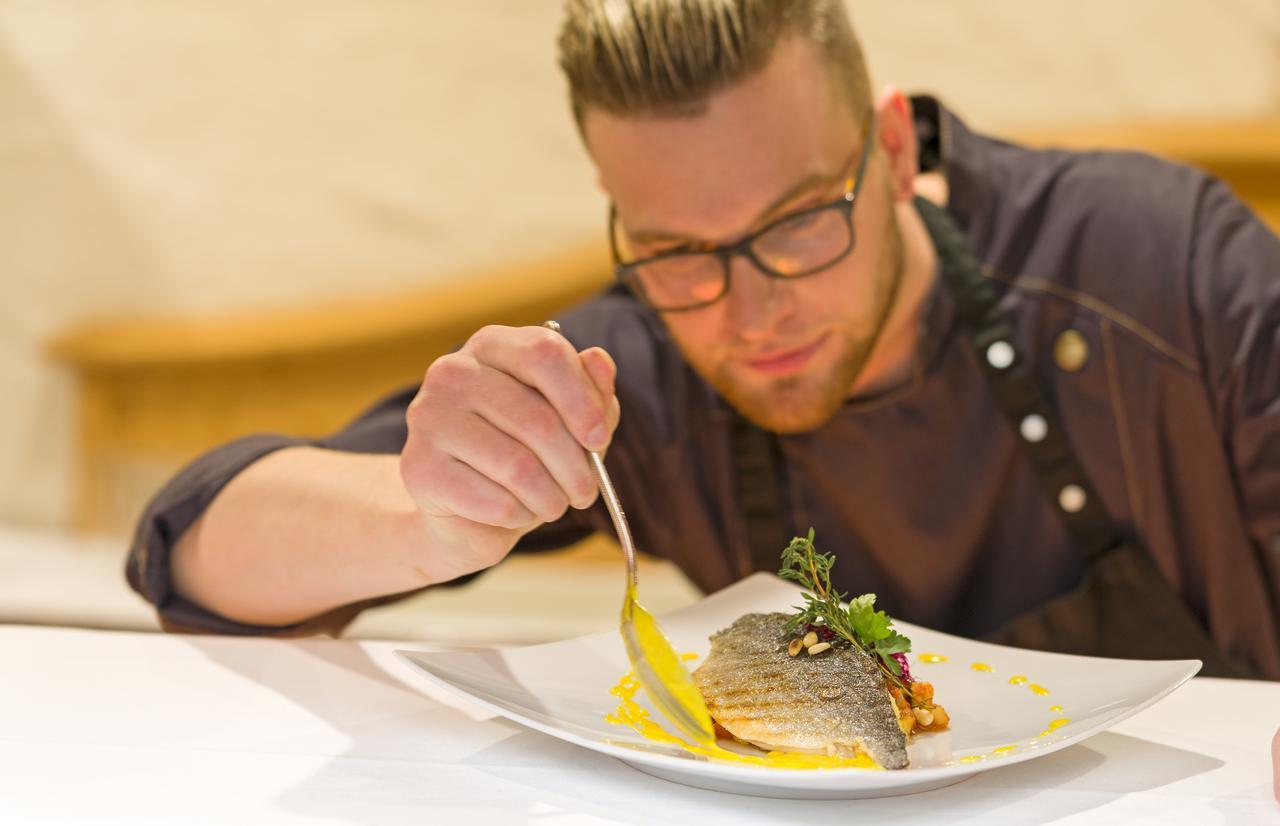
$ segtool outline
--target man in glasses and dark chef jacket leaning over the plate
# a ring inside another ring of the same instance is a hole
[[[128,567],[170,628],[333,631],[608,530],[608,448],[704,589],[814,526],[905,620],[1280,677],[1280,242],[1225,187],[873,97],[835,0],[567,8],[622,286],[184,470]]]

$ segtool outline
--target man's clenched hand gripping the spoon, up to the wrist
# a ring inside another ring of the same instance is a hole
[[[616,368],[540,327],[486,327],[426,371],[401,476],[422,515],[429,579],[499,562],[531,529],[589,507],[618,423]]]

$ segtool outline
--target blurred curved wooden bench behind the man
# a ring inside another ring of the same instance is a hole
[[[1068,147],[1138,147],[1226,179],[1280,232],[1280,120],[1028,132]],[[50,346],[79,380],[76,525],[127,531],[174,470],[237,435],[329,433],[416,382],[484,324],[532,324],[608,280],[602,245],[367,301],[228,318],[137,318]]]

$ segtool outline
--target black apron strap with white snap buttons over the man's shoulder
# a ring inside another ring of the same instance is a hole
[[[984,275],[946,210],[920,197],[915,205],[942,259],[942,278],[956,300],[987,383],[1036,469],[1044,496],[1085,558],[1115,549],[1124,535],[1080,469],[1056,411],[1046,402],[1030,362],[1019,351],[1012,319],[1000,306],[995,282]]]

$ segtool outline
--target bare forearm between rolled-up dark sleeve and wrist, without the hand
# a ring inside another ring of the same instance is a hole
[[[229,620],[291,625],[448,578],[428,544],[398,456],[293,447],[218,494],[174,546],[173,584]]]

